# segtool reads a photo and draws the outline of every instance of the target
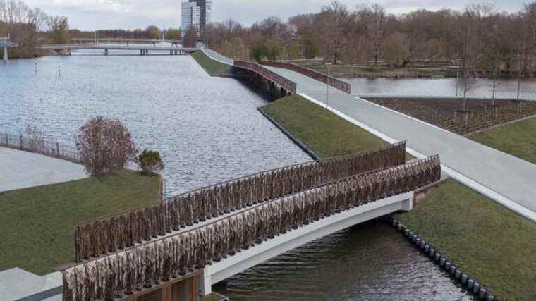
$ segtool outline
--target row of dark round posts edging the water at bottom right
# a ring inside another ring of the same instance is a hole
[[[439,250],[432,245],[432,243],[427,242],[424,238],[420,238],[416,233],[410,231],[403,223],[394,219],[391,216],[389,219],[389,224],[396,229],[396,231],[402,233],[408,242],[418,247],[421,251],[422,256],[427,257],[432,260],[434,264],[437,264],[443,271],[445,271],[449,276],[455,280],[457,283],[460,283],[465,290],[473,295],[477,300],[487,300],[494,301],[498,300],[485,285],[478,283],[475,278],[468,276],[468,274],[463,273],[461,269],[458,269],[455,264],[449,262],[446,254],[441,254]]]

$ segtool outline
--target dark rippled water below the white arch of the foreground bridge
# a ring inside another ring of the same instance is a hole
[[[219,283],[231,300],[471,300],[406,238],[365,223]]]

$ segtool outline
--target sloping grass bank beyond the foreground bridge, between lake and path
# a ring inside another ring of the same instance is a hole
[[[298,95],[262,106],[262,110],[323,158],[364,152],[387,144]]]

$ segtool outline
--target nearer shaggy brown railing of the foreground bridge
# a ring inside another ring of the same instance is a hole
[[[63,300],[113,300],[202,269],[324,216],[441,178],[439,157],[336,180],[63,271]]]

